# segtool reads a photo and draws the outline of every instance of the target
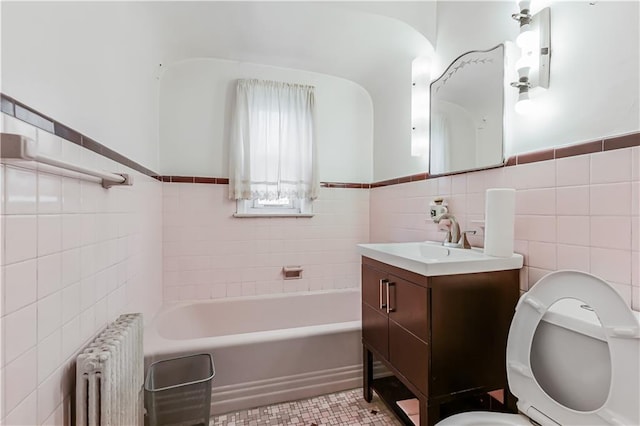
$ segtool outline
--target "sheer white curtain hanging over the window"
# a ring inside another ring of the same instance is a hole
[[[231,119],[229,198],[318,196],[314,88],[238,80]]]

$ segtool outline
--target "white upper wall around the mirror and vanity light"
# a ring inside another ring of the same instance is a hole
[[[532,3],[534,10],[542,6]],[[547,2],[550,87],[532,96],[532,114],[514,115],[506,123],[512,135],[507,156],[640,129],[640,3],[589,3]],[[518,25],[510,16],[516,9],[515,1],[439,2],[432,75],[439,75],[465,51],[514,40]]]

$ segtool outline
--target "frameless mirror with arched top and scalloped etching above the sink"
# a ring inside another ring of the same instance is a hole
[[[431,83],[429,174],[503,162],[504,45],[459,56]]]

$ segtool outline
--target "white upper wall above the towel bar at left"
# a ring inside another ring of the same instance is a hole
[[[2,2],[2,92],[157,169],[160,56],[143,7]]]

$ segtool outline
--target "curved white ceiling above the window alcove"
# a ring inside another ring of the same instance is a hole
[[[157,25],[163,68],[221,58],[314,71],[379,92],[433,54],[435,1],[173,1],[139,4]],[[409,71],[410,72],[410,71]],[[410,77],[409,77],[410,78]]]

